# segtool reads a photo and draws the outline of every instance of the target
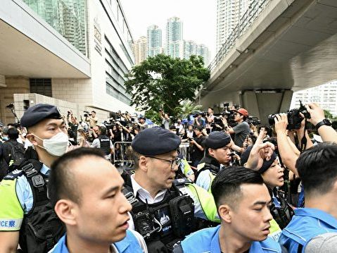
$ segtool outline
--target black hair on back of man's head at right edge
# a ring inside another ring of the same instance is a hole
[[[337,144],[323,142],[305,150],[296,161],[305,195],[324,195],[337,180]]]

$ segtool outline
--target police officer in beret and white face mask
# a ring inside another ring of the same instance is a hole
[[[33,144],[20,169],[0,183],[0,245],[3,252],[47,252],[64,228],[47,197],[51,163],[65,153],[68,135],[56,106],[37,104],[25,111],[21,125]]]

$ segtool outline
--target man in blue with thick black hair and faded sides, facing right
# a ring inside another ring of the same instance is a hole
[[[179,252],[281,252],[270,239],[271,198],[259,173],[244,167],[220,171],[212,183],[221,225],[186,237]]]

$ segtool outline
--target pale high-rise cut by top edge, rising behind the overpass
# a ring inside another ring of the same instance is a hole
[[[253,1],[261,0],[217,0],[217,51],[239,25]]]

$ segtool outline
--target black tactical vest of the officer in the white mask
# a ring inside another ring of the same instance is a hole
[[[33,205],[23,217],[19,244],[23,252],[48,252],[65,233],[65,226],[58,218],[47,196],[48,176],[40,172],[42,163],[35,159],[24,160],[21,170],[6,175],[4,180],[27,178],[33,193]]]

